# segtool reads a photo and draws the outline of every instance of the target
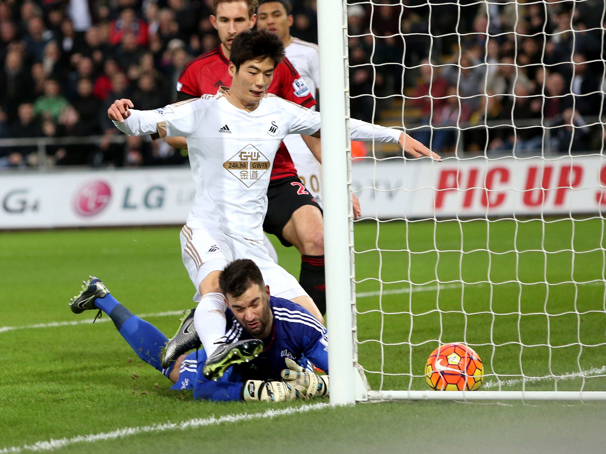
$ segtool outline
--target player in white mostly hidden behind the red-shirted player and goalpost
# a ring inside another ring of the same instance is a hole
[[[286,56],[318,99],[320,89],[320,55],[318,45],[290,36],[293,25],[291,4],[288,0],[260,0],[257,8],[257,27],[273,31],[282,39]],[[316,110],[316,106],[310,107]],[[290,134],[284,139],[288,153],[295,163],[299,179],[322,206],[322,166],[311,154],[300,134]]]

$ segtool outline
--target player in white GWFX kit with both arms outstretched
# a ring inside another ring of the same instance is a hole
[[[230,364],[250,359],[250,352],[238,351],[238,343],[220,345],[227,306],[219,275],[232,260],[250,258],[272,295],[301,304],[322,319],[298,281],[273,262],[263,246],[267,187],[278,146],[287,134],[319,137],[320,128],[318,112],[265,93],[283,57],[284,45],[274,33],[244,31],[231,45],[233,80],[228,90],[156,110],[135,110],[128,99],[116,100],[108,109],[124,133],[187,139],[196,197],[181,232],[182,258],[199,301],[193,326],[208,357],[208,377],[220,377]],[[355,119],[350,127],[353,139],[400,143],[412,156],[440,159],[402,131]]]

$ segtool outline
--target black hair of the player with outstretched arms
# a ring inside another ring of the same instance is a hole
[[[230,61],[236,72],[244,62],[270,58],[274,68],[284,59],[284,43],[278,35],[267,30],[242,31],[231,43]]]

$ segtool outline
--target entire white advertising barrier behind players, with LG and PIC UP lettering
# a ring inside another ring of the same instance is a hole
[[[364,217],[569,214],[606,206],[600,156],[353,163]],[[0,175],[0,228],[184,223],[188,168]]]

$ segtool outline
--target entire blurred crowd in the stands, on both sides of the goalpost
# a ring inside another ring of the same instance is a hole
[[[122,97],[140,109],[175,99],[185,64],[219,44],[210,4],[0,0],[0,138],[102,136],[49,146],[54,165],[186,162],[164,140],[115,143],[106,112]],[[486,5],[351,2],[352,116],[381,123],[396,107],[439,153],[600,150],[604,2]],[[293,1],[293,15],[291,35],[318,42],[316,0]],[[36,165],[35,151],[0,147],[0,167]]]

